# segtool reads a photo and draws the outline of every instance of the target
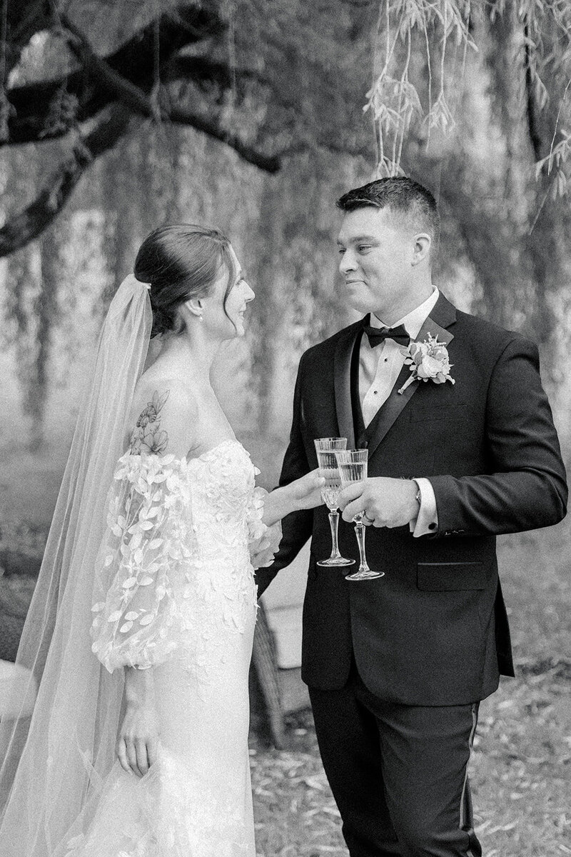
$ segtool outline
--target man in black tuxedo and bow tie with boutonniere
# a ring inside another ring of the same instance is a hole
[[[560,521],[565,470],[536,346],[432,285],[429,191],[386,178],[337,204],[347,300],[366,317],[301,358],[281,482],[317,466],[315,438],[368,449],[343,518],[366,512],[384,577],[316,566],[331,547],[322,506],[284,520],[259,591],[311,537],[301,674],[351,857],[479,855],[467,784],[478,704],[514,674],[495,536]],[[403,349],[429,335],[445,350],[401,392]],[[340,548],[357,557],[353,524]]]

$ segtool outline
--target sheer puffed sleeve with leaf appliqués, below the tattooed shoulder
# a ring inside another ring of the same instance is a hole
[[[181,604],[199,562],[186,460],[123,455],[107,524],[96,567],[92,650],[110,672],[152,667],[179,644]]]

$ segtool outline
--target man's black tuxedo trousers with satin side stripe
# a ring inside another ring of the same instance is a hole
[[[384,702],[354,664],[340,690],[309,695],[351,857],[481,857],[467,780],[478,703]]]

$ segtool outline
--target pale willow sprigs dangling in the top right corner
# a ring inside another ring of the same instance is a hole
[[[484,16],[493,23],[508,15],[514,16],[520,29],[528,102],[532,100],[546,114],[556,104],[549,150],[541,157],[536,153],[537,177],[552,177],[554,198],[567,193],[571,164],[568,0],[382,0],[374,82],[364,107],[374,120],[378,177],[404,172],[403,146],[412,130],[426,143],[434,129],[454,133],[455,96],[467,51],[479,51],[479,22]],[[421,73],[413,63],[419,50],[425,55]]]

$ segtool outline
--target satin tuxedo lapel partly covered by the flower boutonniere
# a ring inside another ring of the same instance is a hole
[[[420,328],[419,335],[415,337],[414,341],[422,342],[430,333],[431,336],[437,337],[439,342],[443,342],[444,345],[449,345],[452,339],[454,339],[454,333],[450,333],[447,328],[450,325],[453,325],[455,321],[455,308],[441,294],[440,297],[438,297],[437,303],[435,303],[434,307],[431,309],[431,314]],[[392,428],[397,417],[401,415],[401,411],[406,407],[414,393],[416,393],[419,388],[420,382],[413,381],[412,384],[409,384],[404,393],[398,393],[402,385],[407,381],[409,375],[410,369],[406,365],[403,366],[400,375],[396,379],[395,386],[390,391],[389,398],[378,410],[378,414],[375,417],[376,425],[372,438],[368,444],[369,457],[371,457],[373,452],[375,452],[379,443],[384,439],[385,434],[387,434],[389,429]]]

